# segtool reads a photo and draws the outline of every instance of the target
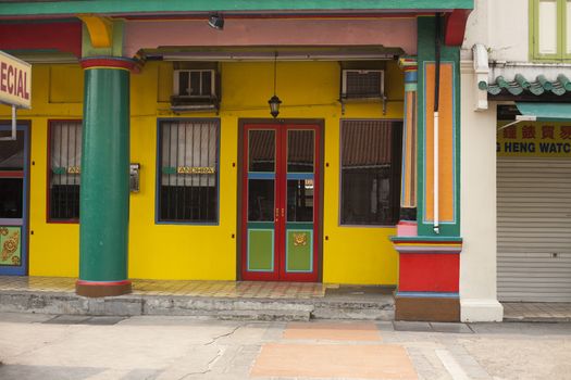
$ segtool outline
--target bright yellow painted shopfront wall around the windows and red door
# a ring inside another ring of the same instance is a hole
[[[34,65],[33,109],[20,112],[32,122],[32,186],[29,274],[78,274],[78,226],[46,223],[48,119],[82,117],[82,71],[76,65]],[[141,164],[140,192],[131,195],[129,277],[152,279],[236,279],[236,189],[239,118],[269,117],[273,94],[272,63],[223,63],[223,102],[214,113],[175,115],[170,111],[172,68],[149,62],[132,75],[131,156]],[[277,64],[280,117],[322,118],[325,130],[323,281],[395,284],[397,254],[388,236],[394,228],[338,226],[339,122],[342,118],[402,118],[402,74],[395,63],[386,67],[386,115],[378,103],[337,102],[340,68],[334,62]],[[0,109],[8,118],[9,109]],[[157,119],[161,117],[220,117],[220,225],[156,225]]]

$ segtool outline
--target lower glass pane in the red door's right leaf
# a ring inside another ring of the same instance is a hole
[[[287,221],[313,221],[313,179],[287,181]]]

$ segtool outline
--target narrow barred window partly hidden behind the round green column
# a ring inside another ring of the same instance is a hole
[[[49,123],[48,216],[51,221],[79,219],[82,121]]]

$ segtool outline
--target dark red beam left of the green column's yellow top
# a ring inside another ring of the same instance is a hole
[[[58,50],[82,58],[82,23],[0,24],[0,50]]]

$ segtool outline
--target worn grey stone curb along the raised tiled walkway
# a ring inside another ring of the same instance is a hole
[[[0,312],[90,316],[195,316],[236,320],[394,320],[388,301],[322,299],[225,299],[182,295],[121,295],[89,299],[75,293],[0,291]]]

